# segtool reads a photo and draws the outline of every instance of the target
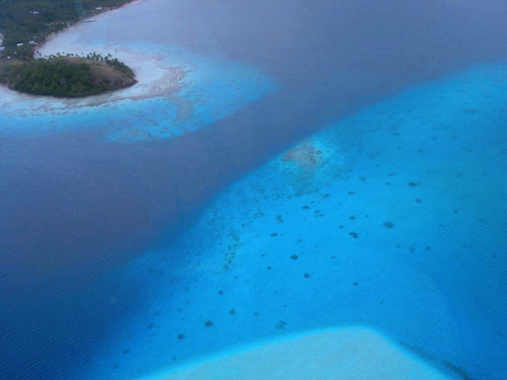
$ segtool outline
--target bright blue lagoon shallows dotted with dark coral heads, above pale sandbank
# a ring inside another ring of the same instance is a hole
[[[505,83],[507,66],[489,65],[421,85],[235,181],[172,247],[132,264],[125,279],[149,306],[84,378],[350,324],[457,378],[502,378]]]

